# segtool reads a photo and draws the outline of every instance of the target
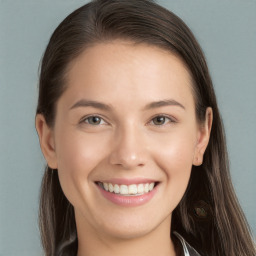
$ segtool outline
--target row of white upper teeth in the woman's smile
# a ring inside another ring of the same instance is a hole
[[[155,183],[145,183],[145,184],[132,184],[132,185],[118,185],[112,183],[99,183],[102,188],[106,191],[114,192],[116,194],[121,195],[138,195],[148,193],[149,191],[153,190]],[[103,185],[102,185],[103,184]]]

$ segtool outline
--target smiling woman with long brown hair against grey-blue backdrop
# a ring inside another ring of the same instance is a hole
[[[204,55],[173,13],[98,0],[70,14],[36,128],[45,255],[255,255]]]

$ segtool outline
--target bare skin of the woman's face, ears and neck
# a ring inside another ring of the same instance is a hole
[[[172,211],[188,185],[192,165],[207,147],[212,110],[198,124],[189,71],[170,52],[128,41],[87,48],[70,63],[67,90],[57,102],[54,127],[42,115],[36,127],[48,165],[58,169],[75,209],[78,255],[176,255],[170,239]],[[111,107],[73,107],[81,99]],[[155,101],[184,106],[144,109]],[[93,125],[88,115],[101,117]],[[156,116],[166,115],[159,125]],[[105,199],[95,181],[149,178],[155,196],[134,207]]]

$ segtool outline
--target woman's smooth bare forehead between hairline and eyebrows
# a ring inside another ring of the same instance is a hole
[[[70,64],[66,93],[133,104],[176,97],[187,104],[193,101],[191,81],[186,65],[171,52],[112,41],[88,47]]]

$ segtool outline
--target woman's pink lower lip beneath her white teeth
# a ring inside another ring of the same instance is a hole
[[[139,206],[139,205],[143,205],[143,204],[147,203],[149,200],[151,200],[157,192],[157,187],[154,187],[153,190],[151,190],[150,192],[145,193],[143,195],[122,196],[120,194],[115,194],[115,193],[108,192],[108,191],[104,190],[103,188],[101,188],[98,185],[97,185],[97,187],[99,188],[101,194],[106,199],[108,199],[112,203],[120,205],[120,206]]]

